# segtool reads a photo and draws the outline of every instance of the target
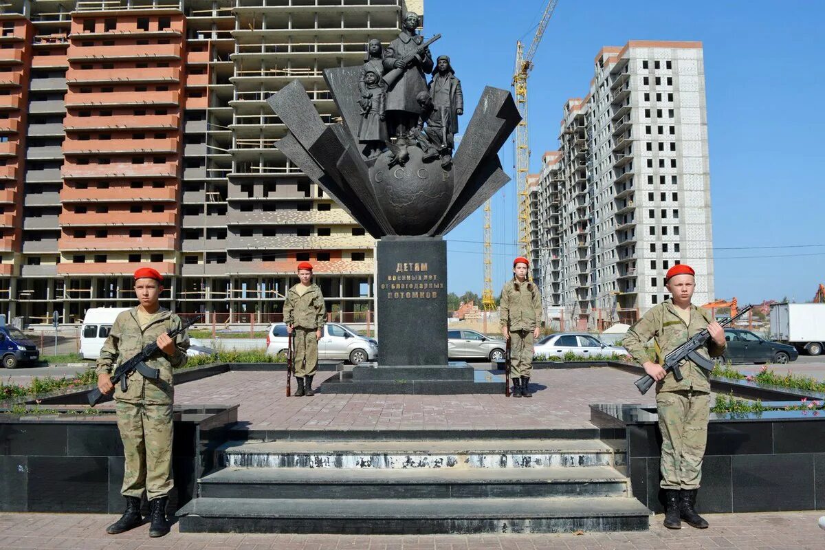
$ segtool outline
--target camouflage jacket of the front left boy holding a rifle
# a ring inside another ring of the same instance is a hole
[[[117,365],[137,355],[144,346],[158,340],[158,336],[181,326],[180,317],[166,308],[160,308],[157,318],[141,329],[137,311],[138,308],[131,308],[129,311],[121,312],[115,319],[109,337],[101,348],[100,359],[97,360],[97,374],[111,374]],[[120,389],[120,384],[115,387],[115,399],[148,405],[171,403],[174,397],[172,369],[186,364],[186,350],[189,349],[189,335],[186,331],[177,336],[175,347],[177,350],[172,355],[166,355],[158,350],[156,356],[146,361],[148,367],[160,370],[160,378],[149,380],[134,371],[129,377],[129,385],[125,392]]]

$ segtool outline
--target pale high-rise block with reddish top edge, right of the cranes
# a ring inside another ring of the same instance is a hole
[[[697,272],[694,303],[714,298],[701,43],[634,40],[594,66],[542,158],[533,220],[547,305],[579,329],[634,322],[678,263]]]

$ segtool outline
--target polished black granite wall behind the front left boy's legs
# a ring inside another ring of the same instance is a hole
[[[224,428],[234,421],[237,406],[176,413],[169,510],[191,500],[197,477],[211,468],[214,444],[225,440]],[[120,513],[125,506],[120,496],[123,468],[114,415],[54,420],[0,416],[0,511]]]

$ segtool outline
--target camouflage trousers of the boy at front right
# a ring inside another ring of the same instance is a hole
[[[695,390],[656,395],[662,430],[662,489],[698,489],[708,440],[710,394]]]

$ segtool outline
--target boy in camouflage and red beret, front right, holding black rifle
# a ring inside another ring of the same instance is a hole
[[[719,357],[724,353],[724,329],[704,309],[691,304],[695,272],[685,264],[667,271],[665,285],[671,299],[654,306],[630,327],[622,345],[657,380],[656,407],[662,431],[662,489],[665,491],[665,520],[668,529],[680,529],[681,519],[699,529],[708,522],[694,509],[702,476],[702,458],[708,439],[710,412],[709,373],[684,360],[679,365],[681,382],[662,369],[664,357],[691,336],[707,328],[710,338],[700,355]],[[657,360],[648,359],[644,344],[654,338]]]

